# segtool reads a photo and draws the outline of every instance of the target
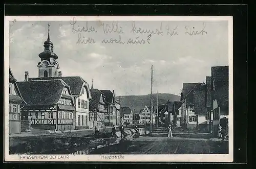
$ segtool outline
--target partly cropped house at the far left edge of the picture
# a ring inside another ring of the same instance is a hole
[[[22,99],[16,81],[9,67],[9,134],[17,134],[22,131],[20,108],[26,104]]]

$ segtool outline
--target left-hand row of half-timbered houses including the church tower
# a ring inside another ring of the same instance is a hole
[[[45,130],[92,129],[124,123],[128,112],[115,101],[114,90],[99,90],[80,76],[62,76],[58,56],[48,38],[38,56],[38,77],[17,82],[9,68],[9,133],[28,128]],[[129,118],[132,117],[132,111]],[[121,118],[121,120],[120,120]],[[131,119],[132,122],[132,119]]]

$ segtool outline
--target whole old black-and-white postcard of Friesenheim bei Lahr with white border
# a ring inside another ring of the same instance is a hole
[[[232,162],[232,31],[232,16],[5,16],[5,161]]]

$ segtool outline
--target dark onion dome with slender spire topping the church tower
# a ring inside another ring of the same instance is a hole
[[[41,59],[50,59],[50,58],[54,58],[54,59],[58,59],[58,56],[53,53],[53,42],[50,40],[50,30],[49,30],[50,25],[48,24],[48,38],[47,40],[44,42],[44,46],[45,46],[45,50],[44,52],[40,53],[38,56]]]

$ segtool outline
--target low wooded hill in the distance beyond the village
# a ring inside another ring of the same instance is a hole
[[[130,107],[134,112],[139,113],[145,106],[150,106],[150,94],[148,95],[124,95],[121,107]],[[158,105],[165,104],[168,100],[180,101],[180,96],[169,93],[158,93]],[[157,94],[153,94],[153,106],[157,105]]]

